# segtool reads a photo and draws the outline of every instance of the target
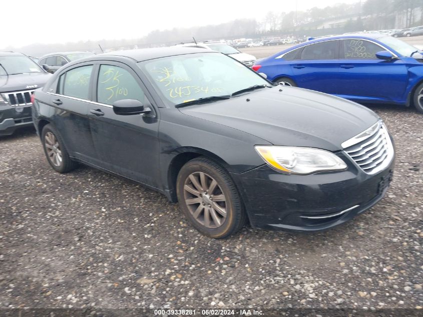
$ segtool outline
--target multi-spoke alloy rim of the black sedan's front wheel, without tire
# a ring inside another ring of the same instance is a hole
[[[226,220],[226,197],[217,181],[203,172],[190,174],[184,183],[184,198],[193,218],[207,228]]]

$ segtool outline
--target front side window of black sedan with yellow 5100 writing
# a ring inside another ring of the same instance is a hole
[[[117,100],[136,99],[145,103],[144,91],[127,70],[111,65],[100,67],[97,101],[112,105]]]

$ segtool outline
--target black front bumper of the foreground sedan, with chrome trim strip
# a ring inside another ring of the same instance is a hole
[[[251,226],[280,231],[321,231],[348,221],[383,198],[393,160],[368,175],[352,162],[340,172],[281,174],[262,165],[232,174]]]

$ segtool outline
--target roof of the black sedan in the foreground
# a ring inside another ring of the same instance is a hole
[[[128,50],[128,51],[117,51],[117,52],[110,52],[96,55],[95,57],[90,57],[91,59],[102,59],[105,56],[121,56],[121,57],[128,57],[137,62],[153,60],[156,58],[168,57],[168,56],[176,56],[176,55],[185,55],[185,54],[193,54],[193,53],[216,53],[213,50],[207,50],[203,48],[192,48],[192,47],[165,47],[165,48],[154,48],[154,49],[136,49],[136,50]],[[87,58],[87,59],[90,59]]]

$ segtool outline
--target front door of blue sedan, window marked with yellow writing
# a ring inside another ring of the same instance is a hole
[[[385,51],[378,44],[361,39],[341,40],[338,91],[336,95],[368,101],[401,101],[408,73],[401,59],[380,60]]]

